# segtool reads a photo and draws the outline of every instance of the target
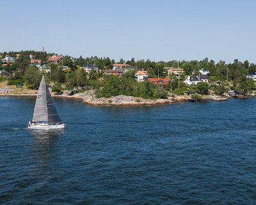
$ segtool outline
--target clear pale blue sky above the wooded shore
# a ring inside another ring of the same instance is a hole
[[[256,63],[256,1],[4,1],[0,52]]]

